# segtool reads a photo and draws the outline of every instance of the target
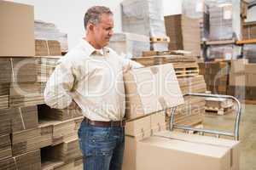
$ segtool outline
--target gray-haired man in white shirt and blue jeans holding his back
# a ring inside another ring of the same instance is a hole
[[[120,170],[125,144],[123,71],[141,67],[106,48],[113,36],[113,13],[95,6],[84,15],[86,37],[60,59],[44,90],[53,108],[81,109],[79,144],[86,170]]]

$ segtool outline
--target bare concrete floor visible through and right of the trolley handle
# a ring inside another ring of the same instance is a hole
[[[233,131],[235,114],[205,116],[204,127]],[[242,105],[240,124],[241,170],[256,169],[256,105]]]

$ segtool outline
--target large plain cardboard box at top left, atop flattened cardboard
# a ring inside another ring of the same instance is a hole
[[[35,55],[32,6],[0,1],[0,23],[0,57]]]

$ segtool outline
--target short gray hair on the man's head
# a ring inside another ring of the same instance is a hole
[[[110,8],[104,6],[93,6],[84,14],[84,28],[88,23],[98,24],[102,14],[113,14]]]

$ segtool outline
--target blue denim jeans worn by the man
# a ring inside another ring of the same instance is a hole
[[[79,144],[84,170],[121,170],[125,149],[124,127],[96,127],[82,122]]]

